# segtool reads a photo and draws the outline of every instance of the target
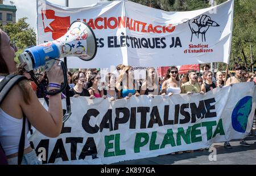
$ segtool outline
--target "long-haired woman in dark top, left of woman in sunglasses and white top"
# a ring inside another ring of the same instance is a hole
[[[147,68],[146,80],[142,83],[140,95],[159,95],[158,76],[156,75],[155,68]]]

